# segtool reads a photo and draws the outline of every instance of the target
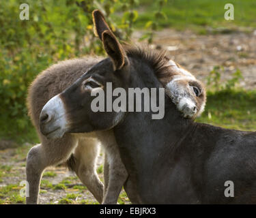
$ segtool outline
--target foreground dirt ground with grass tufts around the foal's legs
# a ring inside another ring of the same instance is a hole
[[[26,180],[25,165],[29,149],[33,144],[23,144],[18,149],[0,150],[0,204],[24,204],[25,197],[20,198],[20,184]],[[100,152],[96,169],[103,181],[104,154]],[[129,204],[122,190],[119,204]],[[40,204],[98,204],[74,172],[65,165],[49,167],[44,171],[40,186]]]

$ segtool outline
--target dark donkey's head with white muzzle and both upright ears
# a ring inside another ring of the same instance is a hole
[[[106,93],[106,82],[112,82],[113,89],[122,87],[129,75],[129,61],[124,48],[106,24],[102,13],[95,10],[93,18],[96,34],[109,58],[88,69],[71,87],[50,99],[42,108],[40,130],[48,138],[60,138],[67,131],[81,133],[111,129],[124,115],[123,112],[91,110],[91,101],[95,98],[91,92],[102,89]]]

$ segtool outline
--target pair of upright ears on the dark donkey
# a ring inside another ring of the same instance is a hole
[[[94,10],[92,17],[94,20],[94,33],[102,40],[104,50],[106,50],[106,53],[113,62],[114,70],[121,69],[124,63],[128,63],[124,48],[118,42],[109,25],[107,25],[102,12]]]

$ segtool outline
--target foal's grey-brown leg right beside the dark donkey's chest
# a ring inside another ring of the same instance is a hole
[[[109,183],[104,195],[103,204],[116,204],[119,193],[128,178],[128,172],[119,155],[119,150],[115,144],[106,149],[106,157],[109,163]]]

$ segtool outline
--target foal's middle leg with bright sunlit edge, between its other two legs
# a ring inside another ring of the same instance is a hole
[[[83,138],[74,151],[75,166],[72,168],[98,202],[103,200],[104,185],[96,172],[96,161],[100,146],[96,138]]]

